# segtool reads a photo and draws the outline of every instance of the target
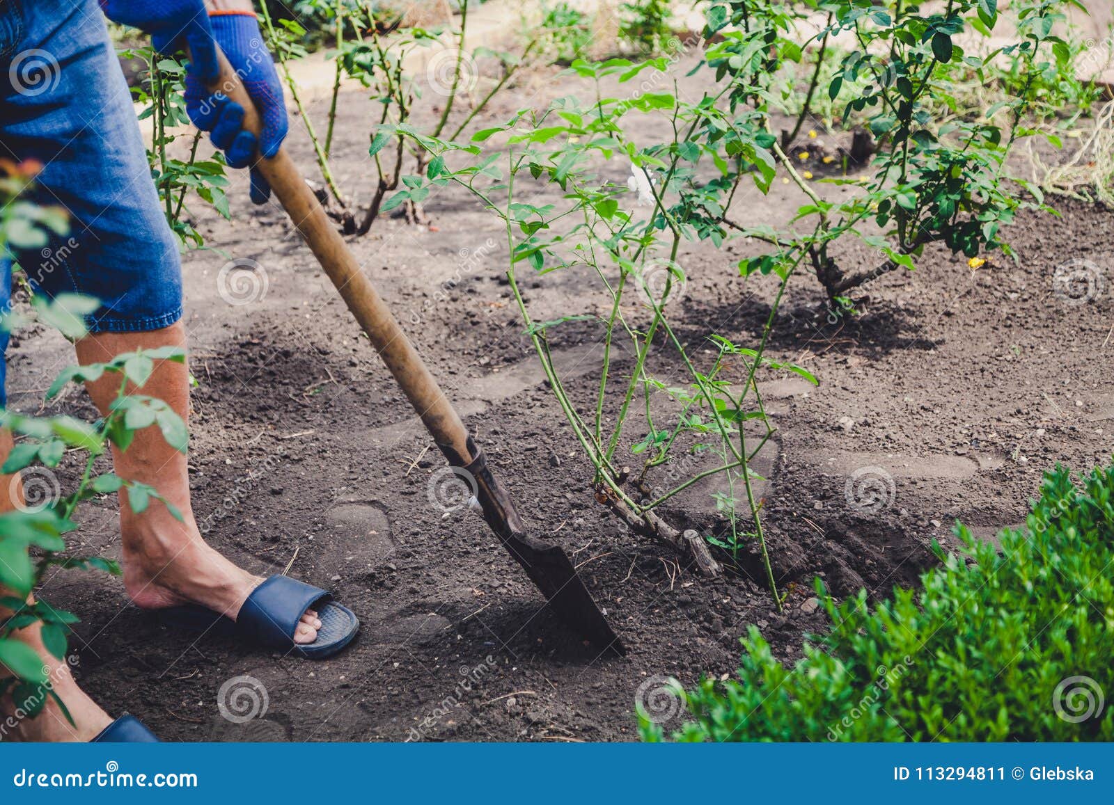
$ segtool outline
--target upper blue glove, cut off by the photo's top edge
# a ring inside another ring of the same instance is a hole
[[[202,81],[216,78],[216,45],[204,0],[100,0],[105,17],[150,35],[160,53],[188,46],[189,68]]]

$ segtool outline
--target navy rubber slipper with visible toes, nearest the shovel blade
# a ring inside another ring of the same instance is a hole
[[[317,612],[321,628],[313,642],[296,644],[294,631],[306,609]],[[236,620],[196,603],[160,609],[158,616],[168,626],[250,640],[307,659],[332,657],[360,630],[360,619],[331,592],[287,576],[272,576],[256,587]]]

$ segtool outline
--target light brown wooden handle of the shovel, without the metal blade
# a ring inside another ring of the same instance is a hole
[[[221,73],[212,92],[221,92],[244,107],[244,128],[258,136],[262,121],[252,99],[232,69],[224,53],[217,50]],[[285,148],[273,159],[258,158],[255,167],[263,174],[280,204],[286,210],[302,238],[309,244],[360,326],[371,338],[372,346],[383,359],[405,393],[422,423],[432,434],[450,463],[463,467],[475,458],[468,431],[449,399],[430,374],[410,338],[399,326],[387,303],[361,271],[352,251],[325,215],[316,196],[302,177]]]

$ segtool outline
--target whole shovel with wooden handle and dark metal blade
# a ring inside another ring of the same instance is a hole
[[[222,92],[244,107],[244,128],[258,135],[261,121],[251,98],[224,53],[217,50],[217,56],[221,73],[209,90]],[[625,654],[565,551],[526,533],[510,497],[488,469],[482,451],[371,281],[360,271],[355,256],[285,148],[273,159],[260,159],[256,167],[271,183],[275,197],[455,468],[453,472],[468,483],[482,508],[483,519],[502,547],[522,566],[554,612],[573,631],[600,649]]]

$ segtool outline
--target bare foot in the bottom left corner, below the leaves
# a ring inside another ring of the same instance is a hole
[[[10,694],[0,697],[0,742],[88,742],[113,723],[96,701],[78,687],[70,675],[69,665],[51,656],[39,639],[39,625],[29,626],[16,632],[16,639],[27,642],[43,659],[43,667],[50,669],[49,685],[66,705],[74,721],[66,717],[62,708],[40,688],[30,698],[16,700]],[[0,666],[0,677],[7,669]],[[27,713],[46,699],[42,710],[33,718]]]

